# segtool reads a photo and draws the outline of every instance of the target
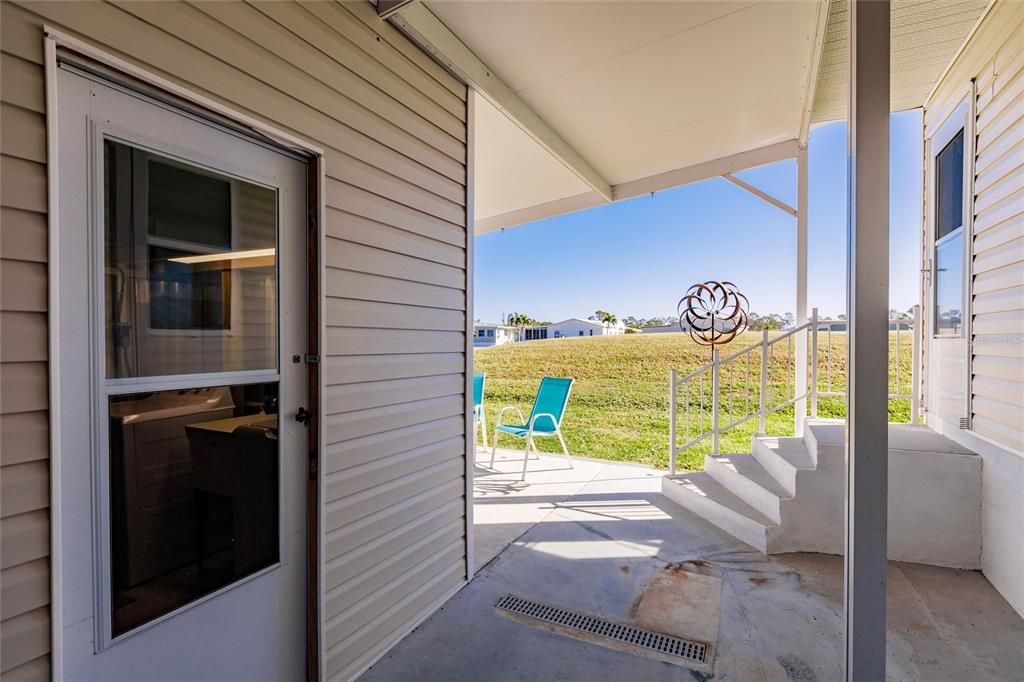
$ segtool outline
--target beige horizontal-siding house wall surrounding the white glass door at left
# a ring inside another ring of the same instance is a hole
[[[465,86],[366,2],[0,11],[0,672],[49,676],[45,23],[326,150],[322,663],[354,676],[467,578]]]

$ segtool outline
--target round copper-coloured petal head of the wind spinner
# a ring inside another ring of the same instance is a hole
[[[701,346],[722,346],[746,329],[750,303],[731,282],[705,282],[686,290],[679,301],[679,329]]]

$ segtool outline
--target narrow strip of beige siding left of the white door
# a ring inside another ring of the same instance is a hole
[[[0,38],[0,676],[50,674],[46,119],[42,43]],[[11,20],[8,20],[11,19]]]

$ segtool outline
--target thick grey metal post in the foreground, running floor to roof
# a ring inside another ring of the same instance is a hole
[[[851,0],[846,680],[886,679],[889,0]]]

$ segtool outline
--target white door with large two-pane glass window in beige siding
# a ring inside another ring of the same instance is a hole
[[[297,680],[306,166],[61,65],[67,679]]]

